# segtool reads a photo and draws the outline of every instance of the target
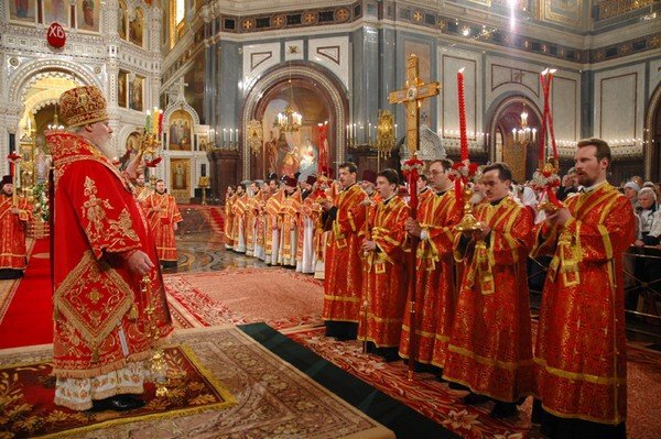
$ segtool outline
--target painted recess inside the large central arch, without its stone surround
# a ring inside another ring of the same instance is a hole
[[[301,113],[302,128],[295,132],[281,131],[274,123],[286,106]],[[260,100],[254,118],[264,127],[263,150],[252,154],[250,175],[266,178],[271,173],[302,175],[316,174],[319,158],[319,124],[332,123],[332,109],[323,92],[312,83],[299,79],[275,84]],[[327,143],[333,144],[334,133]],[[333,155],[329,157],[333,163]],[[326,166],[329,163],[325,164]]]

